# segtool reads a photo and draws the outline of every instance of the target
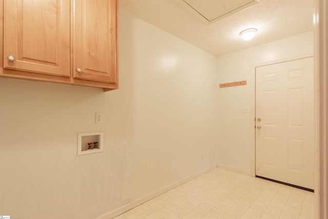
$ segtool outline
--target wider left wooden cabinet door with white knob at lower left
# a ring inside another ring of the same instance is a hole
[[[70,76],[70,1],[4,1],[4,68]]]

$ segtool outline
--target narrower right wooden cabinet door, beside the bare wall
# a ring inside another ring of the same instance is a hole
[[[73,77],[117,83],[117,0],[74,0]]]

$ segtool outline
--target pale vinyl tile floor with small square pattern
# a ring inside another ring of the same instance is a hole
[[[115,219],[314,218],[314,193],[214,169]]]

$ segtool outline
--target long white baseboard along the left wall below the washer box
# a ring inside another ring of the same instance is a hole
[[[183,183],[186,183],[186,182],[192,180],[193,178],[196,178],[197,176],[200,176],[200,175],[202,175],[204,173],[207,173],[207,172],[209,172],[209,171],[211,171],[211,170],[213,170],[215,168],[217,168],[217,165],[212,166],[212,167],[209,167],[209,168],[207,168],[207,169],[205,169],[205,170],[203,170],[201,172],[198,172],[198,173],[193,174],[191,176],[188,176],[186,178],[183,178],[182,180],[180,180],[180,181],[178,181],[176,183],[173,183],[173,184],[171,184],[169,186],[166,186],[164,188],[161,188],[161,189],[159,189],[159,190],[157,190],[155,192],[152,192],[152,193],[150,193],[148,195],[145,195],[144,197],[140,197],[140,198],[138,198],[137,200],[135,200],[135,201],[133,201],[131,203],[128,203],[128,204],[126,204],[126,205],[124,205],[122,207],[119,207],[119,208],[117,208],[117,209],[115,209],[113,211],[110,211],[110,212],[108,212],[106,214],[103,214],[103,215],[101,215],[101,216],[99,216],[99,217],[97,217],[95,219],[111,219],[111,218],[114,218],[114,217],[116,217],[116,216],[118,216],[118,215],[120,215],[120,214],[122,214],[122,213],[124,213],[126,211],[129,211],[129,210],[131,210],[131,209],[133,209],[133,208],[141,205],[142,203],[145,203],[145,202],[153,199],[154,197],[157,197],[158,195],[161,195],[161,194],[163,194],[163,193],[165,193],[167,191],[170,191],[171,189],[174,189],[174,188],[182,185]]]

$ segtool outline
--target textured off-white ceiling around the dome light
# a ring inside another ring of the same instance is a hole
[[[221,2],[223,5],[229,3],[227,0],[207,1]],[[198,1],[197,4],[206,4],[207,1]],[[230,0],[236,1],[241,0]],[[214,55],[313,30],[313,0],[262,0],[212,24],[201,21],[183,7],[181,0],[119,0],[119,4],[144,21]],[[197,6],[201,7],[208,6]],[[243,41],[239,33],[248,28],[256,28],[258,32],[251,41]]]

